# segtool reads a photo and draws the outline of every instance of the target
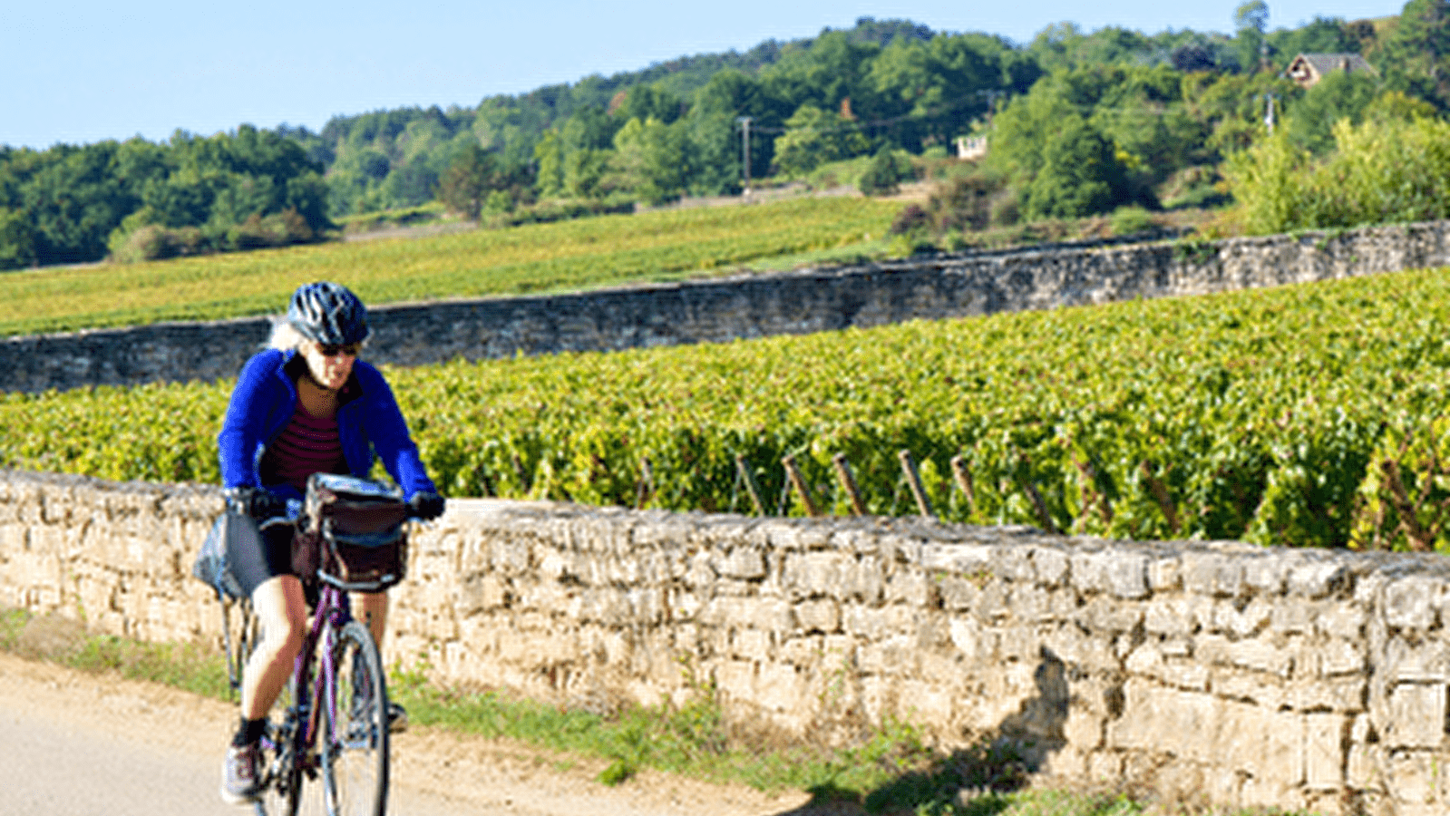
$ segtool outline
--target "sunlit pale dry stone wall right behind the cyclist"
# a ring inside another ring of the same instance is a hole
[[[0,472],[0,604],[219,638],[210,487]],[[586,706],[713,683],[753,728],[1009,741],[1047,783],[1321,813],[1450,807],[1438,557],[1134,544],[922,519],[454,500],[389,662]]]

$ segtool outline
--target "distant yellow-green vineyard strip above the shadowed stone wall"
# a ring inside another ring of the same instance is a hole
[[[877,242],[899,204],[795,199],[0,275],[0,335],[278,312],[299,283],[368,303],[580,290],[699,277],[761,258]]]

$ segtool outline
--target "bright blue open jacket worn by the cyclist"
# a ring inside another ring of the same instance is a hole
[[[267,445],[291,422],[297,410],[294,377],[306,361],[294,351],[267,349],[242,367],[226,406],[226,419],[216,438],[222,464],[222,486],[267,487],[284,499],[302,499],[290,484],[261,484],[258,467]],[[393,390],[373,365],[358,359],[338,394],[338,438],[352,475],[365,477],[373,459],[383,467],[409,499],[415,493],[436,493],[407,435],[407,423]]]

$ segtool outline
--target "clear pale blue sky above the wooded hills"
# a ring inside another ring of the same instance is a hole
[[[490,94],[594,72],[813,36],[860,16],[1027,42],[1063,20],[1088,30],[1228,32],[1241,1],[0,0],[0,143],[160,141],[177,128],[215,133],[244,122],[318,129],[334,115],[474,106]],[[1402,7],[1393,0],[1270,0],[1269,26],[1292,28],[1317,14],[1379,17]]]

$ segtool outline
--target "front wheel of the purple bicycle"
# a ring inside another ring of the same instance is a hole
[[[352,620],[332,641],[331,699],[322,716],[328,816],[383,816],[387,809],[387,687],[377,644]]]

